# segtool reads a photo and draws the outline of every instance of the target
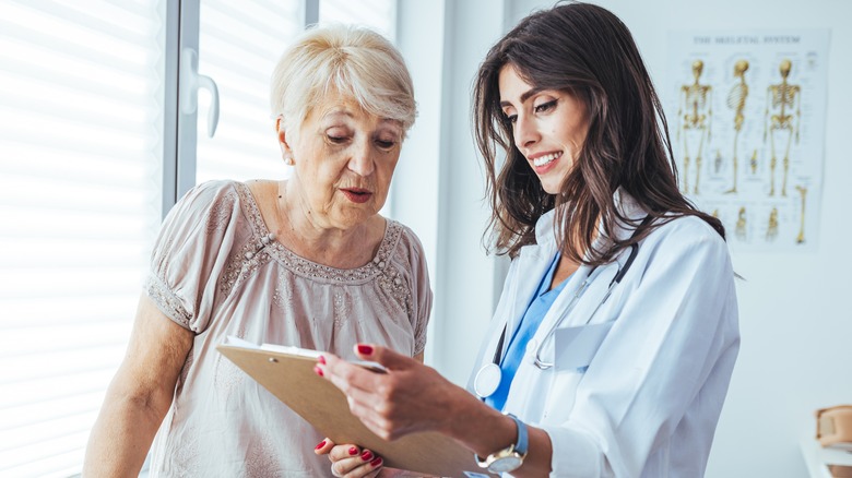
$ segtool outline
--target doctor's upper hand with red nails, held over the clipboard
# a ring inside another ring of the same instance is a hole
[[[473,398],[411,357],[371,344],[356,345],[355,352],[363,360],[381,363],[388,372],[374,372],[328,354],[317,373],[340,389],[352,414],[384,440],[423,431],[449,434],[458,418],[453,405]]]

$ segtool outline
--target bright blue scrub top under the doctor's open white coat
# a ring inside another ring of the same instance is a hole
[[[516,328],[512,338],[509,342],[509,347],[506,350],[506,355],[500,360],[500,384],[497,391],[493,395],[485,398],[485,403],[494,407],[495,409],[502,411],[502,407],[506,406],[506,398],[509,396],[509,389],[511,387],[512,380],[514,380],[514,373],[518,371],[518,366],[521,365],[521,359],[526,351],[526,344],[535,335],[535,331],[544,320],[544,315],[551,310],[551,306],[559,297],[565,284],[565,280],[559,283],[553,290],[547,290],[553,282],[553,275],[556,272],[556,264],[559,263],[559,254],[553,259],[551,266],[542,277],[539,289],[526,306],[526,312],[521,318],[521,323]]]

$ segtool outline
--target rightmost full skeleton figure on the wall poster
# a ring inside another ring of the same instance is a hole
[[[790,70],[793,64],[790,60],[782,60],[778,67],[781,73],[781,83],[769,85],[767,87],[767,104],[764,124],[764,142],[767,134],[771,145],[772,159],[769,163],[770,189],[769,195],[776,195],[776,167],[778,166],[778,155],[776,153],[776,138],[783,139],[786,135],[786,146],[784,147],[784,174],[781,180],[781,195],[786,196],[786,176],[790,171],[790,145],[793,136],[798,143],[798,120],[801,112],[801,93],[798,85],[791,85],[786,82],[790,76]],[[795,118],[790,115],[790,109],[795,107]],[[772,115],[770,116],[770,110]]]

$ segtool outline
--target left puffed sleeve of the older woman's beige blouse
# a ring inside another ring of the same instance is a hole
[[[233,182],[199,184],[175,204],[154,243],[147,296],[169,319],[197,334],[210,323],[238,215]]]

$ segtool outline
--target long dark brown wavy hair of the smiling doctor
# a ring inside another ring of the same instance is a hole
[[[561,91],[585,105],[589,132],[557,194],[544,191],[514,144],[512,124],[500,108],[498,79],[506,65],[535,88]],[[523,19],[488,51],[473,101],[493,208],[486,235],[497,253],[514,256],[534,243],[535,223],[554,207],[559,249],[579,263],[611,262],[653,228],[685,215],[700,217],[724,238],[722,223],[681,194],[660,98],[630,32],[608,10],[559,3]],[[507,153],[501,165],[497,146]],[[616,207],[619,188],[663,220],[617,239],[619,224],[639,226]],[[601,250],[592,246],[599,222],[611,239]]]

